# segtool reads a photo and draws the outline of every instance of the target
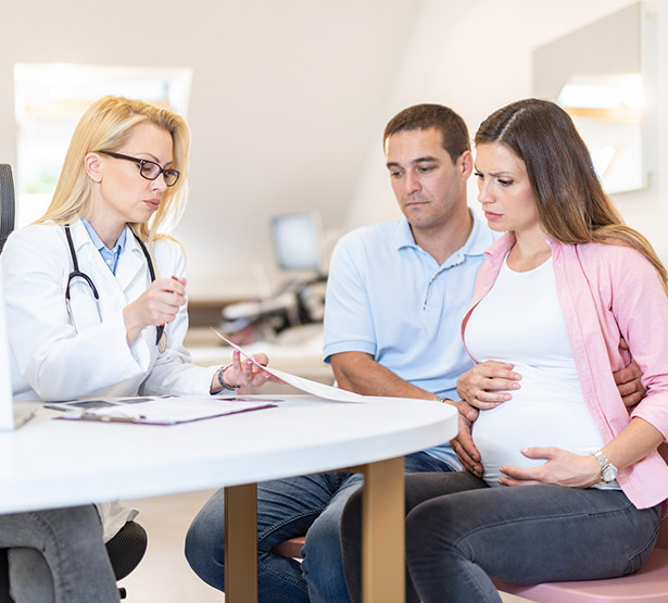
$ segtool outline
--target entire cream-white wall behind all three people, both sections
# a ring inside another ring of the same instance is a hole
[[[449,104],[471,134],[530,95],[531,50],[629,0],[61,0],[2,2],[0,161],[14,162],[16,62],[190,66],[191,196],[177,229],[192,297],[248,290],[272,265],[267,216],[319,210],[328,229],[396,215],[387,121]],[[668,260],[668,5],[656,11],[654,172],[617,198]],[[592,41],[595,45],[595,40]],[[470,190],[471,205],[475,190]],[[666,242],[664,242],[666,240]]]

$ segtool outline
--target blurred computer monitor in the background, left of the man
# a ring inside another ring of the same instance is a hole
[[[320,221],[314,212],[272,217],[274,254],[283,271],[319,272]]]

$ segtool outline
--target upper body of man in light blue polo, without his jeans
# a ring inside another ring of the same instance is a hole
[[[324,356],[340,387],[454,399],[472,366],[459,329],[492,231],[466,205],[472,169],[462,118],[441,105],[399,113],[385,131],[403,217],[354,230],[330,265]],[[450,447],[427,451],[459,468]],[[446,469],[444,469],[446,470]]]

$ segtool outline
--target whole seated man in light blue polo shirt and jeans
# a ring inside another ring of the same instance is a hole
[[[383,136],[392,188],[404,217],[343,237],[333,253],[325,314],[325,359],[340,387],[374,395],[443,401],[472,363],[459,327],[492,233],[466,205],[474,162],[464,121],[433,104],[412,106]],[[461,465],[446,443],[408,455],[406,472]],[[348,602],[339,518],[362,483],[346,472],[259,483],[259,600]],[[192,523],[186,555],[224,590],[223,491]],[[272,548],[306,533],[304,561]]]

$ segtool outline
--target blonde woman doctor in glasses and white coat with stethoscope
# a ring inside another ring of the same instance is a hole
[[[0,255],[16,399],[214,394],[270,378],[238,352],[228,366],[200,367],[184,348],[186,262],[159,233],[185,205],[189,143],[180,116],[142,101],[105,97],[84,114],[46,215]],[[136,515],[98,510],[105,541]],[[60,570],[46,562],[59,600]],[[70,585],[84,588],[77,571]],[[102,596],[91,592],[80,600]]]

